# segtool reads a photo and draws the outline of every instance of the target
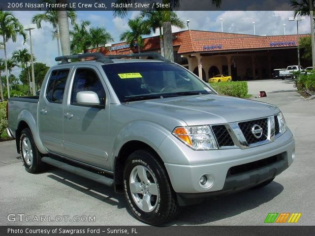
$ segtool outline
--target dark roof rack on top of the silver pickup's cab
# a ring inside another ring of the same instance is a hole
[[[113,63],[112,59],[123,59],[123,58],[136,58],[136,57],[151,57],[152,59],[157,59],[161,61],[170,62],[168,59],[162,57],[160,54],[156,52],[151,53],[133,53],[126,55],[104,55],[102,53],[83,53],[83,54],[74,54],[68,56],[61,56],[55,58],[56,61],[61,61],[62,63],[68,63],[69,59],[87,59],[87,58],[95,58],[96,61],[102,62],[105,64]]]

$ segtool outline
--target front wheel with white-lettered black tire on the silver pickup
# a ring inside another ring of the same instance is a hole
[[[141,173],[145,173],[146,177]],[[142,181],[143,179],[146,181]],[[143,185],[144,182],[147,182],[146,186]],[[134,184],[133,193],[131,183]],[[124,192],[131,212],[147,224],[164,224],[176,217],[179,212],[167,173],[152,151],[137,150],[129,155],[124,171]],[[143,201],[144,198],[149,199]]]

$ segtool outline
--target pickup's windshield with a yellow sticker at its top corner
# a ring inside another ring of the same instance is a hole
[[[121,102],[214,93],[174,63],[130,62],[102,66]]]

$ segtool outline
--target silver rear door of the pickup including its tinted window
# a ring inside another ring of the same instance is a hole
[[[49,151],[63,154],[63,102],[70,67],[52,70],[38,104],[40,139]]]

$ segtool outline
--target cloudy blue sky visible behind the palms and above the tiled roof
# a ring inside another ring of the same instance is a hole
[[[32,16],[40,11],[16,11],[13,14],[23,25],[31,24]],[[105,27],[114,38],[114,42],[119,42],[119,36],[128,29],[128,19],[140,14],[139,11],[132,11],[125,18],[114,18],[111,11],[77,11],[77,22],[89,20],[91,27]],[[284,24],[286,34],[296,34],[296,23],[289,22],[292,16],[290,11],[178,11],[177,15],[186,22],[189,19],[190,29],[221,31],[221,20],[223,19],[223,31],[232,33],[253,34],[253,24],[257,35],[283,35]],[[187,28],[186,28],[187,29]],[[173,28],[173,31],[182,29]],[[33,53],[38,62],[46,63],[48,66],[56,64],[57,42],[52,39],[52,27],[49,24],[42,24],[42,29],[32,30]],[[299,32],[310,32],[310,19],[299,22]],[[150,35],[148,35],[150,36]],[[23,40],[18,37],[17,42],[11,40],[7,42],[7,55],[11,57],[14,50],[27,48],[30,50],[29,41],[23,45]],[[0,57],[4,58],[3,50]],[[20,68],[16,67],[13,74],[18,75]]]

